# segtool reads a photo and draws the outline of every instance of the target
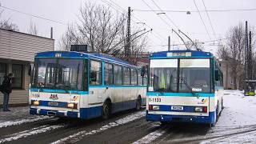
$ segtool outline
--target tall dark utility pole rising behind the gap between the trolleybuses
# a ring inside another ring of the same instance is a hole
[[[125,56],[126,56],[126,61],[130,62],[130,6],[128,7]]]

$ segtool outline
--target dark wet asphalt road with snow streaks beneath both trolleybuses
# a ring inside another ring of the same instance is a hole
[[[0,123],[0,143],[171,143],[174,139],[182,143],[182,138],[204,136],[209,130],[206,125],[146,122],[145,110],[128,110],[105,121],[23,114]]]

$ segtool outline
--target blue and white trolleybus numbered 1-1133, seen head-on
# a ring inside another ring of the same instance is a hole
[[[222,110],[223,77],[210,52],[170,50],[150,55],[146,120],[214,126]]]

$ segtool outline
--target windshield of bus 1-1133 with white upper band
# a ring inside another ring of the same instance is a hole
[[[181,58],[179,65],[178,59],[152,59],[148,90],[210,93],[210,59]]]

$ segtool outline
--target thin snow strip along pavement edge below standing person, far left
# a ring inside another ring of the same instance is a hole
[[[16,125],[21,125],[24,123],[29,123],[29,122],[37,122],[45,119],[49,119],[51,117],[49,116],[38,116],[36,118],[26,118],[26,119],[20,119],[20,120],[15,120],[15,121],[6,121],[6,122],[1,122],[0,123],[0,128],[3,127],[8,127],[8,126],[16,126]]]

